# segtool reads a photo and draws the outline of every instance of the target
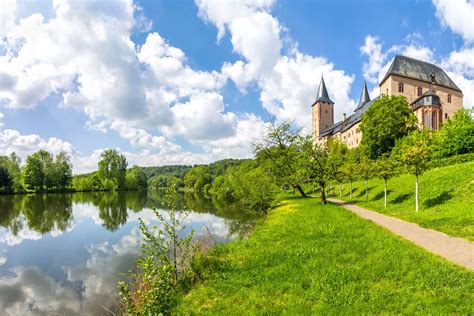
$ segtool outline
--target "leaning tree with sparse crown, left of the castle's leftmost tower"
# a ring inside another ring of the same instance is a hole
[[[302,184],[307,175],[301,169],[300,143],[300,129],[292,122],[277,125],[272,120],[265,135],[253,143],[253,150],[275,178],[306,197]]]

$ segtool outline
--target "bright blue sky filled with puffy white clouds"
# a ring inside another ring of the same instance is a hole
[[[251,155],[269,115],[309,129],[323,74],[336,119],[395,54],[441,65],[472,106],[474,4],[2,2],[0,154],[118,148],[130,164]]]

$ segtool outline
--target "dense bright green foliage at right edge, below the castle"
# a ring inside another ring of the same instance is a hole
[[[461,109],[454,113],[436,133],[434,158],[474,152],[474,109]]]

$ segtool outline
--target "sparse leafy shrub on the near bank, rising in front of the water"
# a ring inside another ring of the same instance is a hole
[[[176,209],[177,187],[168,190],[170,210],[154,210],[160,226],[149,228],[140,219],[143,235],[136,270],[119,282],[126,313],[133,315],[169,314],[180,288],[192,276],[191,259],[195,252],[193,231],[182,237],[187,212]]]

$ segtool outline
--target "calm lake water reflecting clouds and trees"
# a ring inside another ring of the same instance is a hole
[[[218,242],[253,220],[201,195],[181,196],[187,230],[207,227]],[[159,191],[0,196],[0,313],[107,315],[119,273],[139,250],[138,219],[158,224]]]

